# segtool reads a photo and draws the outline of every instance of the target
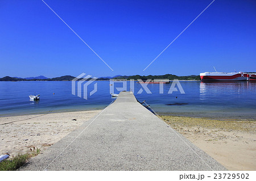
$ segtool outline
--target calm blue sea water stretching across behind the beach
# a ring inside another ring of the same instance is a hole
[[[171,83],[164,85],[164,94],[159,94],[158,84],[147,85],[152,94],[146,94],[144,90],[138,94],[142,86],[135,83],[134,92],[140,102],[146,100],[158,113],[256,119],[256,82],[180,83],[185,94],[180,94],[180,91],[167,94]],[[71,94],[71,82],[0,82],[0,116],[100,110],[115,98],[109,94],[109,81],[97,81],[97,85],[97,92],[85,100]],[[122,83],[114,83],[114,87],[121,86]],[[88,90],[93,90],[93,84]],[[127,90],[130,90],[129,83]],[[116,89],[115,93],[118,93]],[[28,95],[35,94],[40,94],[40,100],[30,101]]]

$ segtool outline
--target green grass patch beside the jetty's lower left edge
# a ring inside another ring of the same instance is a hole
[[[0,171],[14,171],[19,169],[19,167],[23,166],[29,158],[35,157],[40,153],[40,149],[31,148],[29,153],[26,154],[18,154],[11,159],[5,159],[0,162]]]

